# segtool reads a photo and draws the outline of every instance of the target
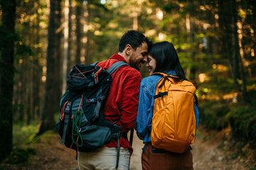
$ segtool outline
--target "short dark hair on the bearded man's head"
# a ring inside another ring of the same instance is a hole
[[[137,47],[142,45],[142,42],[146,42],[146,44],[148,45],[148,49],[152,45],[151,40],[149,40],[149,38],[146,38],[145,35],[143,35],[139,31],[128,30],[127,33],[124,33],[124,35],[122,35],[122,38],[119,41],[118,52],[122,52],[127,44],[131,45],[132,48],[136,50]]]

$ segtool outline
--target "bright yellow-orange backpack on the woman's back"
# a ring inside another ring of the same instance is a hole
[[[174,81],[163,73],[156,85],[151,143],[154,148],[183,153],[195,140],[196,87],[190,81]]]

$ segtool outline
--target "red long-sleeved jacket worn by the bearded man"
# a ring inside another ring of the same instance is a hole
[[[114,62],[124,61],[121,55],[112,55],[109,60],[99,62],[97,66],[103,69],[109,69]],[[119,67],[112,74],[112,84],[105,103],[105,118],[111,123],[116,120],[117,125],[122,128],[123,132],[128,132],[134,128],[134,123],[137,118],[139,84],[142,76],[130,66]],[[120,138],[120,147],[128,147],[132,154],[132,146],[129,141],[123,137]],[[117,147],[117,142],[108,142],[107,147]]]

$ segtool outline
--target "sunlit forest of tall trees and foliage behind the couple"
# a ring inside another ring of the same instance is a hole
[[[256,160],[256,1],[0,2],[0,162],[56,133],[70,69],[116,54],[127,30],[174,44],[196,86],[199,127],[230,132],[233,157],[254,150]],[[141,74],[149,76],[146,67]]]

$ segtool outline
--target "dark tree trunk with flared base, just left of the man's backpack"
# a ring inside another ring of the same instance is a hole
[[[41,135],[46,130],[52,130],[54,128],[54,107],[56,104],[54,96],[55,94],[55,58],[54,58],[54,49],[55,49],[55,10],[57,0],[50,0],[50,17],[49,17],[49,26],[48,26],[48,47],[47,47],[47,72],[46,72],[46,92],[44,97],[44,107],[41,116],[41,122],[38,126],[37,135]]]

